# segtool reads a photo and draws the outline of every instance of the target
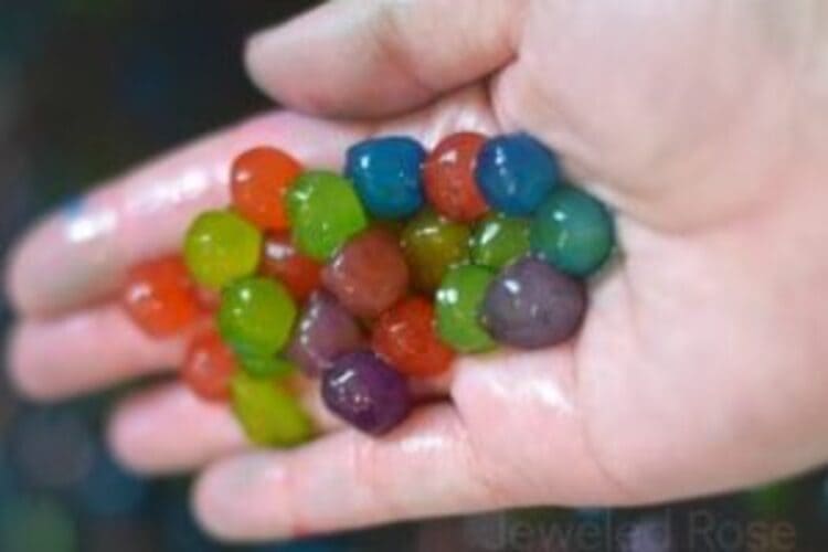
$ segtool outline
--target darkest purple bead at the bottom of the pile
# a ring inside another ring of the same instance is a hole
[[[412,408],[405,378],[370,351],[340,357],[322,374],[322,399],[331,412],[373,435],[393,429]]]

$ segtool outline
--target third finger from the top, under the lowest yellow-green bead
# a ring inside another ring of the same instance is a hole
[[[309,386],[300,401],[320,433],[341,426]],[[190,471],[221,456],[253,448],[227,404],[208,403],[180,383],[140,392],[121,403],[109,424],[118,459],[141,474]]]

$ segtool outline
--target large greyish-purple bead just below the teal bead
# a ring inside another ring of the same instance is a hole
[[[585,311],[586,293],[580,280],[527,257],[491,284],[482,321],[501,343],[540,349],[571,338]]]

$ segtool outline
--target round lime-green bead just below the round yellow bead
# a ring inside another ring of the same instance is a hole
[[[219,329],[241,357],[272,357],[288,338],[296,319],[290,294],[270,278],[236,280],[222,294]]]

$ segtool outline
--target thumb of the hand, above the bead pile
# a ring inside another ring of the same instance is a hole
[[[507,64],[526,2],[340,0],[258,33],[253,79],[326,116],[399,113]]]

